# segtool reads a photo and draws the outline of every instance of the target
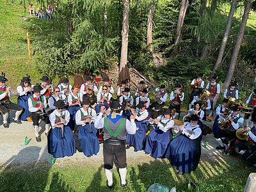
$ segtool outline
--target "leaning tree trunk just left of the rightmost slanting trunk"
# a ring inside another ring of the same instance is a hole
[[[216,70],[218,70],[218,68],[221,65],[221,61],[222,61],[222,58],[223,58],[223,55],[224,55],[224,52],[225,52],[225,47],[226,47],[227,40],[228,40],[228,34],[230,32],[230,28],[231,28],[231,24],[232,24],[232,19],[234,17],[234,12],[236,10],[236,3],[237,3],[237,0],[232,1],[230,11],[229,11],[229,15],[228,15],[228,22],[227,22],[226,30],[225,30],[225,33],[224,33],[224,36],[223,36],[223,39],[222,39],[222,42],[221,42],[221,45],[220,45],[220,51],[219,51],[219,54],[218,54],[218,58],[216,60],[215,66],[212,70],[212,74],[214,74],[214,72],[216,72]]]

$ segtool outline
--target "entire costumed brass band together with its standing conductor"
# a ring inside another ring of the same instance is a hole
[[[4,128],[9,127],[9,110],[14,109],[17,112],[13,122],[21,124],[20,120],[31,120],[36,141],[40,142],[38,129],[40,121],[44,121],[49,153],[56,158],[72,156],[76,150],[87,157],[97,155],[99,143],[103,141],[104,168],[109,188],[113,187],[114,162],[120,173],[121,186],[126,185],[125,148],[134,147],[134,152],[144,150],[145,154],[150,154],[155,159],[169,158],[171,164],[177,166],[179,174],[196,170],[201,154],[200,142],[205,134],[202,120],[207,110],[213,111],[220,94],[220,84],[216,83],[216,76],[212,76],[211,83],[207,84],[203,92],[204,81],[202,74],[198,74],[191,82],[191,106],[184,118],[184,124],[175,125],[174,118],[179,117],[180,106],[184,100],[180,84],[175,84],[175,90],[170,93],[170,106],[163,108],[168,97],[165,86],[161,85],[154,90],[155,100],[150,104],[149,89],[143,81],[138,84],[135,99],[127,81],[122,81],[118,87],[117,99],[113,99],[115,90],[109,77],[104,77],[100,86],[92,76],[84,77],[82,84],[71,86],[68,79],[63,78],[58,86],[52,86],[47,76],[40,79],[40,84],[33,85],[27,75],[17,87],[18,104],[10,102],[12,89],[6,86],[6,81],[8,80],[2,73],[0,110],[3,113]],[[254,91],[248,99],[248,105],[254,102],[253,108],[256,107],[256,90]],[[243,124],[243,117],[239,115],[241,107],[232,100],[238,99],[236,84],[230,84],[224,97],[223,104],[216,108],[218,116],[213,125],[214,136],[220,143],[217,148],[220,150],[237,144],[234,142],[236,130]],[[252,121],[256,122],[255,117]],[[248,132],[250,142],[254,142],[248,148],[251,151],[256,141],[254,125],[250,130],[244,129]],[[230,131],[231,129],[235,131]],[[230,140],[231,135],[233,140]],[[248,146],[240,145],[238,147],[241,150],[246,150],[245,147]],[[255,155],[253,157],[252,153],[250,157],[244,156],[253,163]]]

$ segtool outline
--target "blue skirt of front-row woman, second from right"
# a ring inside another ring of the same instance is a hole
[[[168,144],[172,140],[170,134],[170,130],[164,132],[158,128],[150,131],[146,138],[145,152],[151,154],[155,159],[162,158],[166,152]]]

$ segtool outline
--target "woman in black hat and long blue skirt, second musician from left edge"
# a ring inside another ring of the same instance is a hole
[[[31,79],[27,75],[26,77],[22,77],[20,85],[17,86],[17,93],[19,93],[18,105],[23,108],[23,111],[20,114],[20,120],[22,121],[26,121],[30,116],[30,112],[28,110],[28,99],[32,96],[31,90],[33,88],[30,81]]]

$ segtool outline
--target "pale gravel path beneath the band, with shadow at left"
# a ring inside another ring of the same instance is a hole
[[[3,122],[1,118],[0,122]],[[212,125],[212,123],[209,122],[206,122],[206,124],[209,126]],[[0,167],[6,166],[10,163],[20,165],[30,163],[36,164],[40,162],[50,163],[51,155],[47,152],[47,138],[44,135],[44,123],[40,124],[40,127],[42,128],[40,131],[40,134],[42,134],[42,141],[37,143],[31,122],[22,122],[21,125],[17,125],[12,123],[11,120],[9,129],[4,129],[3,124],[0,124]],[[28,145],[24,145],[24,139],[26,136],[29,138]],[[219,150],[215,149],[218,143],[213,138],[213,135],[208,134],[207,136],[204,136],[202,146],[204,141],[207,141],[208,144],[206,148],[202,147],[202,157],[211,157],[212,160],[218,157],[218,159],[221,160],[222,154]],[[129,159],[129,161],[136,161],[136,159],[145,159],[145,161],[154,160],[143,151],[134,152],[132,147],[127,150],[127,159]],[[85,157],[83,153],[76,152],[72,157],[57,159],[56,164],[78,162],[102,163],[102,144],[100,145],[100,152],[97,156]]]

